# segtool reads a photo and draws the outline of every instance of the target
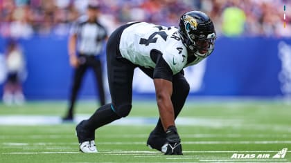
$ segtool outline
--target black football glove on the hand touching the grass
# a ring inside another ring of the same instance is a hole
[[[168,127],[166,131],[165,155],[183,155],[180,137],[175,126]]]

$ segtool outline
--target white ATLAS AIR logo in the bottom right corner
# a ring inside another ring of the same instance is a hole
[[[233,155],[231,156],[231,159],[282,159],[285,157],[286,153],[287,153],[288,148],[283,148],[281,151],[279,151],[278,153],[276,153],[276,155],[271,156],[270,154],[266,154],[266,153],[259,153],[259,154],[255,154],[255,153],[250,153],[250,154],[240,154],[240,153],[233,153]]]

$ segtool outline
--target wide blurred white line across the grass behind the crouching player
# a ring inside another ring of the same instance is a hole
[[[40,126],[58,124],[78,124],[83,119],[88,119],[90,115],[77,115],[73,122],[62,122],[59,116],[45,115],[0,115],[0,126]],[[175,123],[180,126],[206,126],[212,128],[231,127],[255,128],[256,130],[286,131],[291,133],[289,125],[282,124],[249,124],[244,119],[222,119],[212,117],[178,117]],[[109,125],[117,126],[148,126],[157,124],[157,117],[126,117],[118,119]]]

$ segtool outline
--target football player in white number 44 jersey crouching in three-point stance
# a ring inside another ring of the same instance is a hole
[[[215,28],[200,11],[184,13],[179,28],[132,22],[117,28],[107,42],[107,72],[112,103],[76,126],[80,151],[97,152],[95,130],[126,117],[132,108],[132,77],[140,68],[155,84],[159,121],[148,146],[166,155],[182,155],[175,118],[189,92],[183,68],[197,64],[214,49]]]

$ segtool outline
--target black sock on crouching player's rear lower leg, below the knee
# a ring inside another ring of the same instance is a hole
[[[89,119],[85,122],[85,127],[90,131],[95,131],[100,126],[109,124],[119,117],[111,108],[111,104],[106,104],[98,108],[98,110],[91,115]]]

